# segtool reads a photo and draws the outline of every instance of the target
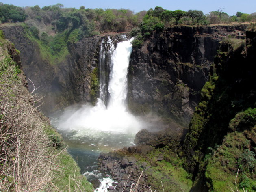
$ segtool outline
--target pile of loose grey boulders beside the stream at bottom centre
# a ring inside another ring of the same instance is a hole
[[[139,146],[138,148],[143,151],[151,149],[150,146]],[[147,148],[147,149],[146,149]],[[135,188],[139,179],[138,191],[147,189],[147,170],[152,166],[147,162],[139,162],[134,156],[121,156],[121,153],[128,152],[127,148],[122,151],[111,152],[108,154],[101,154],[99,157],[99,171],[106,172],[111,175],[112,179],[116,182],[114,186],[108,188],[109,192],[128,192],[130,188]],[[158,161],[163,160],[163,155],[160,155]],[[116,186],[115,186],[116,185]]]

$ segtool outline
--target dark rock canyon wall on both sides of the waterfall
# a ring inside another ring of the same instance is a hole
[[[187,125],[200,100],[199,91],[209,78],[219,41],[239,33],[243,37],[245,28],[245,25],[175,26],[154,32],[141,49],[132,52],[128,74],[130,110],[135,114],[155,112]],[[35,93],[43,97],[40,108],[45,114],[93,101],[91,76],[98,67],[101,37],[69,43],[67,54],[50,61],[24,26],[0,29],[20,50],[29,90],[35,86]]]

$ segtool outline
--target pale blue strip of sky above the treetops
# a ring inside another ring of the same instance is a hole
[[[224,7],[224,12],[228,15],[235,15],[237,11],[243,13],[256,12],[256,0],[0,0],[4,4],[13,4],[16,6],[43,6],[61,3],[64,7],[85,6],[85,8],[114,8],[114,9],[130,9],[135,12],[148,10],[161,6],[163,9],[176,10],[189,9],[202,10],[204,14],[210,11],[216,11],[219,7]]]

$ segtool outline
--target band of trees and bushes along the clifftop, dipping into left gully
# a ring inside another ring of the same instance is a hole
[[[170,11],[155,7],[134,13],[129,9],[80,9],[64,8],[62,4],[33,7],[17,7],[0,4],[0,21],[25,22],[45,55],[56,63],[52,56],[60,57],[67,52],[69,43],[95,35],[130,32],[136,36],[132,45],[139,48],[153,31],[163,31],[172,25],[228,24],[232,22],[255,22],[256,13],[237,12],[229,16],[220,8],[204,14],[200,10]]]

